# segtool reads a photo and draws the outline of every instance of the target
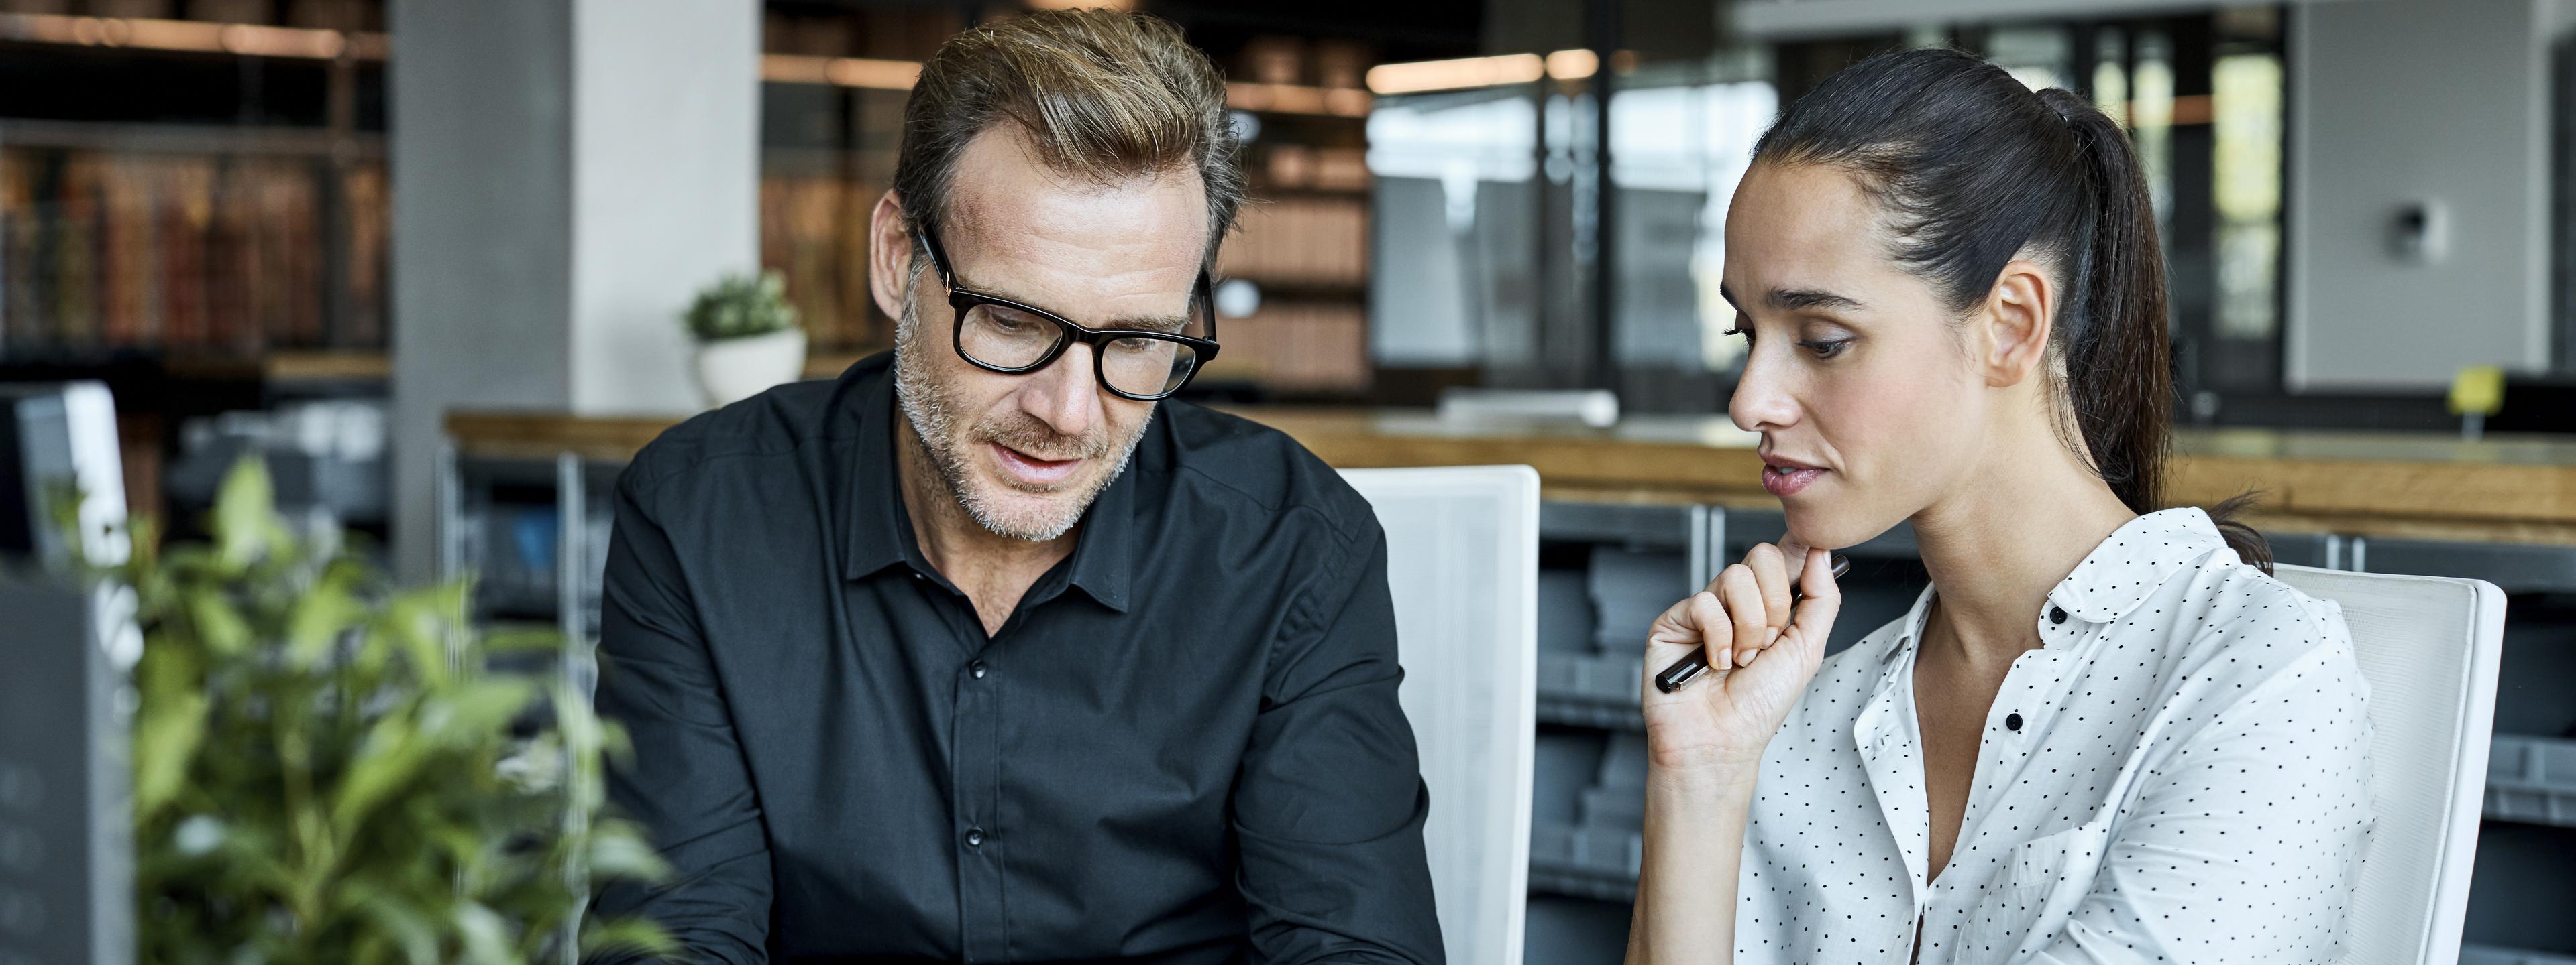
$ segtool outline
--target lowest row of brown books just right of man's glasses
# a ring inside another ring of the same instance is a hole
[[[1368,309],[1358,301],[1273,299],[1252,317],[1218,322],[1216,340],[1226,350],[1206,378],[1316,394],[1368,389]]]

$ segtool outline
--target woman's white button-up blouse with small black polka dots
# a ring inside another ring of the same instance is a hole
[[[2200,510],[2130,520],[1986,713],[1950,865],[1924,867],[1914,610],[1834,654],[1770,741],[1736,962],[2334,962],[2370,834],[2367,687],[2334,602]]]

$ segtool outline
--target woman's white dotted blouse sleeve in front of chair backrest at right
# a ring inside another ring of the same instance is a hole
[[[2370,718],[2331,630],[2148,777],[2035,962],[2339,960],[2370,834]]]

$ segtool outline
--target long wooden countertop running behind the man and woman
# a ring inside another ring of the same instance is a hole
[[[1236,409],[1332,466],[1538,468],[1551,499],[1777,507],[1757,437],[1726,417],[1631,417],[1615,427],[1443,422],[1422,409]],[[670,417],[459,412],[448,435],[484,458],[634,458]],[[2424,432],[2179,430],[2174,504],[2264,489],[2254,525],[2293,533],[2576,546],[2576,440]]]

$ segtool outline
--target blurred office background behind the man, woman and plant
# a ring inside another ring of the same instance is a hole
[[[793,306],[773,378],[886,350],[866,226],[917,64],[1056,5],[0,0],[0,381],[103,381],[134,512],[185,533],[260,453],[299,520],[580,646],[603,484],[760,378],[693,299],[775,273],[732,291]],[[1620,955],[1636,630],[1777,533],[1723,419],[1736,178],[1803,90],[1929,44],[2128,124],[2177,499],[2264,486],[2285,561],[2514,594],[2468,942],[2576,962],[2576,3],[1113,5],[1226,69],[1247,144],[1190,396],[1340,466],[1546,479],[1533,962]],[[1847,636],[1922,584],[1904,533],[1855,553]]]

